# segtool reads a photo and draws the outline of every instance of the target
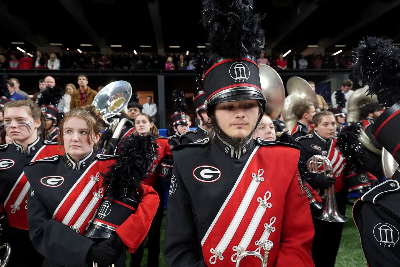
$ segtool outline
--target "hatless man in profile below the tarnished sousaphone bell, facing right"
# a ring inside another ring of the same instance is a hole
[[[311,101],[300,101],[293,106],[294,115],[296,115],[297,123],[292,130],[294,138],[307,135],[310,130],[310,123],[315,114],[315,107]]]

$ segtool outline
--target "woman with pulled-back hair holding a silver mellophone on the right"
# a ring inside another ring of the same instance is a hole
[[[321,111],[315,114],[312,126],[313,129],[309,135],[296,139],[296,144],[300,147],[301,151],[300,157],[307,160],[313,155],[322,155],[322,151],[328,152],[327,157],[332,163],[333,176],[326,176],[323,173],[309,173],[309,180],[307,182],[314,189],[328,189],[334,185],[338,211],[340,214],[345,214],[347,192],[344,189],[343,177],[346,177],[346,173],[350,173],[351,171],[355,171],[357,174],[360,173],[358,169],[353,170],[352,167],[354,164],[351,164],[346,159],[346,156],[350,158],[348,155],[350,155],[350,143],[352,143],[352,140],[348,139],[348,143],[344,143],[340,139],[341,142],[339,142],[338,137],[334,136],[336,121],[332,112]],[[358,140],[356,141],[358,142]],[[344,147],[347,148],[344,149]],[[354,147],[357,149],[357,146]],[[345,151],[347,152],[345,153]],[[359,151],[354,152],[354,154],[357,154],[357,152]],[[354,154],[352,158],[356,157]],[[368,176],[370,181],[378,183],[376,177],[369,173]],[[315,236],[312,243],[312,257],[315,266],[333,267],[339,249],[343,223],[331,223],[317,218],[313,218],[313,221]]]

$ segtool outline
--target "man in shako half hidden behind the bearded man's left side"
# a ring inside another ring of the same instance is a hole
[[[197,129],[184,132],[179,139],[180,144],[189,144],[200,141],[206,138],[210,132],[210,124],[208,124],[208,116],[206,107],[204,106],[204,100],[206,100],[206,93],[199,91],[193,96],[193,104],[196,106],[196,116],[199,121]]]

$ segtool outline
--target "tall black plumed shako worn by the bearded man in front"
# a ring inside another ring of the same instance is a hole
[[[203,25],[209,29],[210,62],[204,70],[205,106],[256,99],[265,109],[256,58],[264,46],[259,14],[252,0],[203,0]]]

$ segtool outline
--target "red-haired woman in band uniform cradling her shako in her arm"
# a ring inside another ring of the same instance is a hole
[[[118,157],[96,155],[101,125],[94,106],[71,110],[61,122],[58,138],[65,155],[24,167],[32,186],[28,196],[29,235],[45,257],[44,266],[111,265],[120,258],[124,246],[135,251],[156,213],[157,194],[142,185],[136,213],[114,235],[98,244],[83,235],[106,193],[102,174]],[[107,212],[102,210],[98,215],[106,217]]]

